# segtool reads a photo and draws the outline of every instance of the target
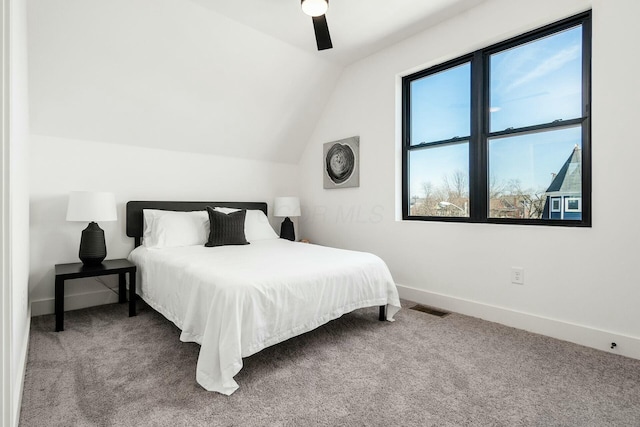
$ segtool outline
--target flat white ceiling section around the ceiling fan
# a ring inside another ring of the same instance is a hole
[[[192,0],[203,7],[315,54],[347,65],[391,46],[484,0],[330,0],[334,48],[315,52],[311,18],[300,0]]]

